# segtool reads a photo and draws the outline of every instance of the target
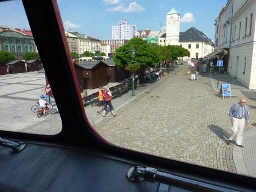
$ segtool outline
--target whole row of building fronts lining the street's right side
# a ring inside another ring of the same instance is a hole
[[[256,88],[255,15],[256,1],[229,0],[215,23],[215,54],[227,63],[229,75],[250,89]]]

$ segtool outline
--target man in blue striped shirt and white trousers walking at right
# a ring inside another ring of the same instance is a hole
[[[232,135],[229,138],[227,144],[232,143],[233,138],[236,137],[235,145],[243,148],[243,132],[244,132],[244,123],[246,123],[246,127],[249,126],[249,112],[248,108],[245,105],[246,98],[241,98],[238,104],[234,104],[229,111],[229,118],[231,119],[231,130]]]

